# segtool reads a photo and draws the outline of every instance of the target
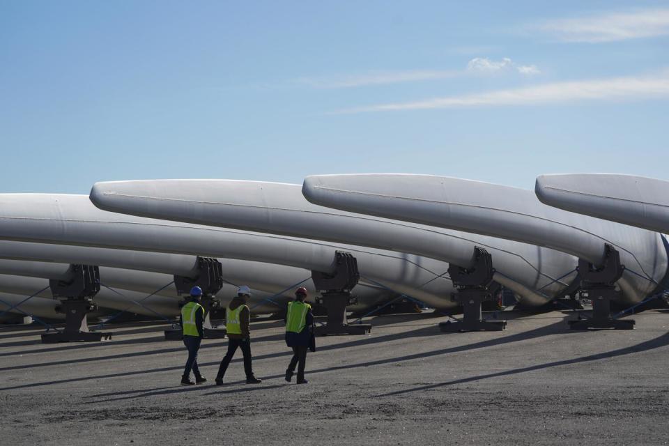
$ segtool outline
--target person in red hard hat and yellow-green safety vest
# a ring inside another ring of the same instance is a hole
[[[305,380],[307,348],[316,351],[314,315],[312,314],[312,306],[305,303],[306,298],[307,289],[300,286],[295,291],[295,300],[289,302],[288,312],[286,312],[286,344],[293,348],[293,357],[288,369],[286,369],[286,381],[289,383],[297,365],[298,384],[307,384],[307,380]]]

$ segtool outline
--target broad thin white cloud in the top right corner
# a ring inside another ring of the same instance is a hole
[[[538,26],[563,42],[604,43],[669,34],[669,8],[551,20]]]

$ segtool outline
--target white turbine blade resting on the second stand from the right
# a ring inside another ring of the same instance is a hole
[[[568,254],[337,212],[309,203],[299,185],[238,180],[118,181],[96,183],[91,201],[105,210],[130,215],[392,249],[461,266],[470,266],[475,246],[485,247],[503,259],[495,279],[536,305],[560,293],[576,275],[570,271],[577,261]]]

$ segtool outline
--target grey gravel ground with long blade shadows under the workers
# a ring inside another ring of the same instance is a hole
[[[562,312],[505,313],[505,332],[440,334],[431,314],[371,318],[369,335],[319,338],[309,384],[286,383],[277,321],[252,323],[226,385],[181,387],[185,348],[163,325],[98,344],[0,331],[2,445],[667,445],[669,314],[636,330],[572,332]],[[226,340],[205,340],[213,381]]]

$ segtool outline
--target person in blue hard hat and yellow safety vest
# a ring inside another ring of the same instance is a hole
[[[204,308],[200,305],[202,289],[193,286],[190,290],[190,302],[181,308],[181,327],[183,328],[183,344],[188,349],[188,360],[181,377],[181,385],[206,383],[207,378],[200,374],[197,367],[197,351],[204,336]],[[195,382],[190,380],[190,371],[195,375]]]

